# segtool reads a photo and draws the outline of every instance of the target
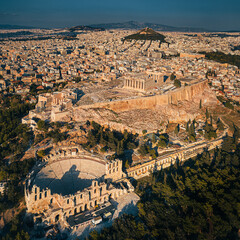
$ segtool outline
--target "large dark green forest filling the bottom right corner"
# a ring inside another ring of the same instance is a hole
[[[239,133],[222,149],[176,162],[138,182],[137,216],[123,215],[90,240],[237,239],[240,226]]]

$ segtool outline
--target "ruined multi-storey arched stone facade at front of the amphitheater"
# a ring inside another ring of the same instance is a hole
[[[117,199],[127,192],[123,185],[116,188],[111,184],[108,186],[104,182],[93,181],[92,186],[83,191],[62,196],[51,194],[49,189],[41,191],[34,185],[31,192],[25,192],[25,199],[28,212],[43,214],[44,221],[54,224],[60,219],[94,209],[97,205],[108,202],[110,198]]]

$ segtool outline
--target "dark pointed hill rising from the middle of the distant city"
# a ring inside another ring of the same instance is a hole
[[[162,34],[155,32],[151,28],[144,28],[137,33],[134,33],[132,35],[126,36],[124,40],[160,40],[161,42],[166,42],[165,41],[165,36]]]

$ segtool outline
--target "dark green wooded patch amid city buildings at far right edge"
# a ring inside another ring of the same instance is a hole
[[[240,56],[225,54],[222,52],[203,52],[206,58],[220,63],[229,63],[240,68]]]

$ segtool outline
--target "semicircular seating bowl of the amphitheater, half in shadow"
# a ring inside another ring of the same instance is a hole
[[[93,179],[105,174],[105,162],[88,158],[64,158],[43,167],[34,179],[40,189],[50,189],[51,193],[74,194],[92,185]]]

